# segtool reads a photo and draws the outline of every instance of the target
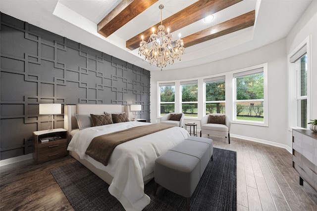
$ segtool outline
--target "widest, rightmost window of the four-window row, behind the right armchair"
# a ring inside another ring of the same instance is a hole
[[[264,123],[264,68],[233,74],[238,121]]]

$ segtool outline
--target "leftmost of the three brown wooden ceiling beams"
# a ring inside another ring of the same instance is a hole
[[[97,24],[97,32],[108,37],[158,0],[122,0]]]

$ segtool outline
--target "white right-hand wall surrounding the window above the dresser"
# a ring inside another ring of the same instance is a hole
[[[286,53],[289,55],[308,36],[311,38],[311,103],[310,116],[308,119],[317,119],[317,0],[303,13],[286,37]],[[292,144],[292,131],[287,130],[288,145]]]

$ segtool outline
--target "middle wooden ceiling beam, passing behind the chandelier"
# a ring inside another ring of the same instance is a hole
[[[162,22],[166,29],[169,28],[172,31],[176,31],[240,1],[242,0],[199,0]],[[145,41],[149,40],[152,28],[157,29],[159,24],[160,22],[126,41],[126,47],[130,50],[140,47],[141,36],[144,36]]]

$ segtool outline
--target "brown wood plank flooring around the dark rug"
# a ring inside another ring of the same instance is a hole
[[[205,136],[207,137],[207,136]],[[213,146],[237,152],[238,211],[317,211],[317,193],[292,168],[285,149],[231,137],[210,136]],[[0,167],[1,211],[73,211],[50,170],[70,156],[44,164],[33,160]]]

